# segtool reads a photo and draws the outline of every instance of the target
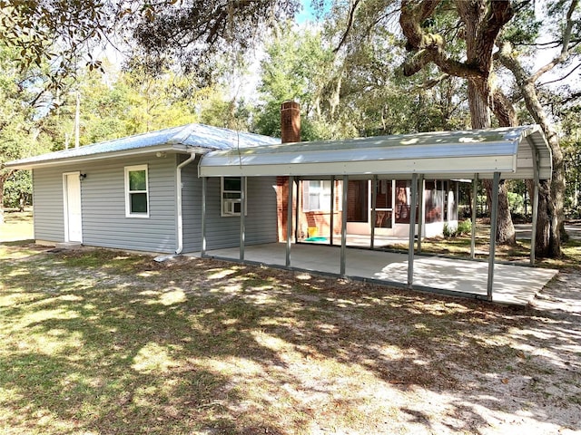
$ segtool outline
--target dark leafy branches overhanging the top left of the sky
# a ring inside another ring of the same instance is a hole
[[[91,55],[96,45],[129,49],[149,71],[182,67],[212,84],[216,59],[242,59],[299,7],[299,0],[0,0],[0,39],[24,67],[52,63],[53,88],[83,65],[101,70]]]

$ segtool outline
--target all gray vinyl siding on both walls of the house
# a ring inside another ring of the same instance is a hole
[[[83,244],[172,253],[177,248],[176,166],[187,156],[125,158],[34,169],[34,237],[64,241],[63,174],[87,174],[81,182]],[[182,169],[183,252],[202,249],[202,179],[199,159]],[[124,167],[148,165],[149,218],[125,217]],[[246,244],[277,241],[276,179],[247,181]],[[240,218],[222,217],[220,178],[208,183],[208,249],[238,247]]]

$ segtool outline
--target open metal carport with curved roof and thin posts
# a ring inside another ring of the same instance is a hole
[[[408,135],[382,136],[350,140],[325,140],[314,142],[295,142],[260,147],[238,148],[233,150],[212,151],[206,154],[199,166],[202,177],[202,256],[219,256],[211,253],[212,247],[206,244],[206,186],[209,177],[241,178],[241,218],[240,247],[237,261],[248,261],[245,258],[245,189],[248,177],[285,176],[289,177],[288,216],[292,216],[293,201],[297,197],[296,181],[298,179],[340,179],[343,183],[342,209],[347,209],[347,189],[350,179],[398,178],[411,180],[411,202],[418,203],[423,189],[419,189],[419,180],[429,179],[471,179],[474,191],[478,179],[492,179],[493,198],[491,204],[491,225],[489,255],[487,261],[486,294],[480,291],[465,291],[441,288],[429,285],[426,279],[414,281],[414,257],[416,255],[415,225],[409,225],[409,252],[406,263],[407,279],[404,283],[409,288],[430,290],[440,293],[475,297],[493,300],[495,290],[495,253],[497,236],[497,192],[500,179],[534,180],[533,198],[533,232],[531,246],[535,246],[537,227],[538,184],[540,179],[551,177],[551,151],[547,141],[537,125],[472,131],[438,131]],[[476,198],[476,194],[473,195]],[[421,199],[420,199],[421,203]],[[476,207],[473,207],[476,213]],[[416,207],[410,208],[410,222],[416,221]],[[421,208],[419,208],[421,213]],[[279,261],[261,262],[271,266],[284,266],[291,269],[298,267],[292,257],[292,218],[288,218],[284,264]],[[474,240],[476,217],[472,218],[472,253],[474,258]],[[419,219],[421,225],[421,219]],[[401,285],[393,281],[391,275],[369,277],[369,274],[358,273],[357,269],[348,266],[354,256],[348,256],[346,213],[341,218],[341,244],[339,251],[338,273],[331,275],[355,279],[373,279],[385,284]],[[418,238],[418,249],[420,247]],[[337,252],[337,248],[335,248]],[[351,249],[350,249],[351,251]],[[365,251],[359,251],[365,252]],[[359,256],[361,256],[360,254]],[[531,250],[530,266],[534,266],[535,253]],[[312,269],[312,268],[311,268]],[[361,270],[363,267],[361,267]],[[316,270],[316,269],[314,269]],[[442,269],[445,273],[454,268]],[[456,269],[458,270],[458,268]],[[326,272],[325,270],[319,270]],[[348,273],[349,271],[349,273]],[[531,270],[531,276],[532,274]],[[421,271],[419,271],[421,273]],[[424,271],[425,273],[429,273]],[[441,277],[441,276],[440,276]],[[449,276],[454,278],[455,276]],[[425,278],[425,277],[424,277]],[[458,278],[458,276],[456,276]],[[548,279],[547,279],[548,280]]]

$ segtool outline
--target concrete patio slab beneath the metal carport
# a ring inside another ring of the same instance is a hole
[[[208,256],[239,260],[239,248],[217,249]],[[265,266],[285,266],[283,243],[245,247],[244,260]],[[298,244],[291,247],[291,268],[313,273],[340,274],[340,247]],[[557,274],[557,270],[507,264],[495,265],[493,302],[526,305]],[[408,255],[348,248],[346,275],[349,278],[406,285]],[[450,294],[487,295],[488,264],[482,261],[415,256],[413,286],[429,287]]]

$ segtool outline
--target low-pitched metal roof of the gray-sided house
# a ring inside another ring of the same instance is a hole
[[[30,169],[78,160],[104,159],[144,152],[193,151],[203,154],[210,150],[230,150],[238,147],[247,148],[274,143],[281,143],[281,140],[260,134],[231,131],[194,123],[9,161],[5,166],[7,168]]]

